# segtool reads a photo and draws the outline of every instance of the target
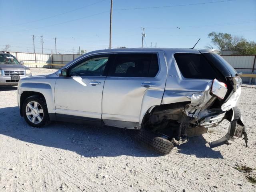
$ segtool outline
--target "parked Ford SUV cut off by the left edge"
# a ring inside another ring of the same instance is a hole
[[[18,85],[20,79],[31,76],[30,68],[9,52],[0,51],[0,86]]]

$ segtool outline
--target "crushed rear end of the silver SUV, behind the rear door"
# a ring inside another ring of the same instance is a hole
[[[168,154],[188,138],[204,134],[223,120],[230,122],[222,138],[211,148],[244,136],[245,124],[237,105],[242,79],[218,50],[174,51],[165,54],[168,74],[161,105],[145,114],[138,140]]]

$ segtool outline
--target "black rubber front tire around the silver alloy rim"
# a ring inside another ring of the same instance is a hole
[[[31,122],[27,115],[26,115],[26,106],[29,102],[32,102],[32,101],[35,101],[35,102],[38,102],[38,104],[42,107],[42,110],[43,110],[43,116],[42,116],[42,121],[39,122],[39,123],[33,123]],[[32,127],[42,127],[44,126],[48,120],[49,120],[49,114],[48,114],[48,109],[47,109],[47,106],[46,106],[46,101],[44,100],[44,98],[42,98],[41,96],[30,96],[28,98],[26,98],[26,100],[24,101],[23,105],[22,105],[22,114],[23,114],[23,117],[25,119],[25,121]]]

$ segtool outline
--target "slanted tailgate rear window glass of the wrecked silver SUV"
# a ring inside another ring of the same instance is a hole
[[[216,53],[204,53],[206,59],[211,62],[225,77],[236,76],[236,70]]]

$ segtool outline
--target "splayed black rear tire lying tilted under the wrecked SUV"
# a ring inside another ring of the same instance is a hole
[[[156,136],[154,133],[141,129],[135,136],[141,142],[160,154],[169,154],[174,148],[174,144],[168,139]]]

